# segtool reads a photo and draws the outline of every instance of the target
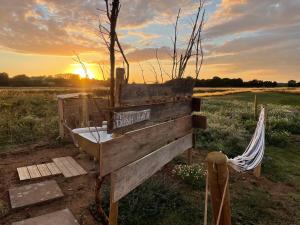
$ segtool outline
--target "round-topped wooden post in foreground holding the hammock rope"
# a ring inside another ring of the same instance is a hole
[[[227,158],[222,152],[210,152],[206,157],[206,161],[208,164],[208,184],[211,193],[214,224],[216,225],[217,223],[223,191],[225,191],[218,225],[231,225],[229,183],[226,186],[227,179],[229,179]]]

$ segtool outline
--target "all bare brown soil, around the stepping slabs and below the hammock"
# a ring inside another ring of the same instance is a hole
[[[194,151],[193,162],[203,162],[207,151]],[[87,175],[65,178],[58,175],[36,180],[20,181],[17,168],[51,162],[52,158],[72,156],[86,171]],[[186,158],[186,154],[183,155]],[[85,154],[81,154],[73,145],[47,147],[47,145],[22,146],[17,151],[0,154],[0,225],[10,225],[13,222],[27,218],[40,216],[64,208],[69,208],[81,225],[97,224],[89,211],[90,204],[94,201],[95,185],[95,163]],[[172,164],[164,167],[163,172],[172,176]],[[54,179],[64,193],[62,199],[47,203],[12,210],[8,196],[8,190],[12,187],[22,186],[30,183],[37,183],[44,180]],[[264,177],[256,178],[250,173],[231,173],[232,182],[246,183],[246,187],[261,186],[267,190],[273,199],[286,205],[284,193],[295,191],[293,187],[283,183],[274,183]],[[245,187],[244,186],[244,187]],[[291,206],[286,205],[287,208]]]

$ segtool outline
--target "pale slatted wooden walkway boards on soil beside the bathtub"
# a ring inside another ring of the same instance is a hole
[[[31,165],[17,168],[20,180],[29,180],[40,177],[63,174],[65,177],[74,177],[87,172],[71,157],[52,159],[51,163]]]

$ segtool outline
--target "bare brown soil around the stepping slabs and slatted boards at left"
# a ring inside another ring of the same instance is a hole
[[[51,162],[52,158],[72,156],[88,171],[87,175],[65,178],[63,175],[54,177],[20,181],[17,167],[29,166]],[[79,157],[78,157],[79,156]],[[69,208],[81,225],[95,224],[94,218],[89,212],[89,205],[94,200],[93,187],[95,185],[94,162],[89,157],[79,154],[72,145],[56,148],[27,149],[0,154],[0,224],[9,225],[12,222],[21,221],[30,217],[51,213],[60,209]],[[8,196],[8,189],[30,183],[54,179],[64,193],[62,199],[50,201],[40,205],[12,210]],[[2,214],[2,215],[1,215]],[[3,215],[4,214],[4,215]]]

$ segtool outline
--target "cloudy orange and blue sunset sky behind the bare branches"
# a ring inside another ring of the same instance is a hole
[[[130,81],[142,82],[142,73],[147,82],[155,81],[156,49],[168,79],[178,9],[179,47],[184,48],[197,1],[120,2],[117,33],[130,62]],[[0,0],[0,72],[83,74],[74,60],[78,54],[89,76],[103,79],[100,64],[107,78],[109,55],[99,36],[99,18],[104,21],[99,9],[103,0]],[[300,0],[206,0],[205,10],[200,78],[300,80]],[[186,76],[194,76],[193,62]]]

